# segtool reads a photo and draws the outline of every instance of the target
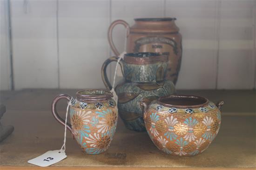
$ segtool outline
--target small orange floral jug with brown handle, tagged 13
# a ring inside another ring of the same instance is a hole
[[[71,100],[68,109],[71,125],[67,123],[67,129],[87,154],[105,152],[113,139],[118,113],[112,97],[106,90],[86,89],[78,91],[75,99],[68,94],[59,94],[52,102],[54,118],[65,126],[56,111],[56,104],[61,99]]]

